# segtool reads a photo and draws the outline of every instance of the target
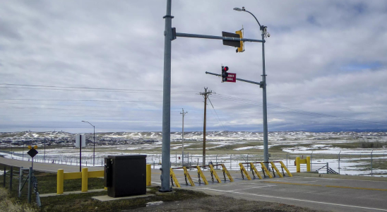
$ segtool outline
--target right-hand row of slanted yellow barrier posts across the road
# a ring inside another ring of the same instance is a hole
[[[270,163],[271,165],[271,170],[273,172],[273,176],[270,175],[270,171],[268,170],[268,168],[266,167],[266,165],[264,165],[263,163]],[[280,170],[278,170],[278,168],[275,166],[274,163],[280,163],[281,164],[281,169],[282,169],[282,173],[280,172]],[[244,164],[247,164],[247,165],[250,165],[251,167],[251,174],[253,175],[253,179],[256,179],[256,176],[259,178],[259,179],[263,179],[262,176],[259,174],[258,170],[256,169],[256,166],[254,164],[260,164],[261,165],[261,169],[262,169],[262,173],[263,173],[263,177],[266,178],[266,175],[268,175],[269,178],[273,178],[275,177],[275,172],[277,172],[277,175],[280,176],[280,177],[285,177],[285,172],[284,170],[287,172],[287,175],[289,177],[293,177],[292,173],[290,173],[290,171],[287,169],[287,167],[285,166],[284,163],[282,163],[282,161],[271,161],[271,162],[251,162],[251,163],[239,163],[239,167],[240,167],[240,170],[241,170],[241,175],[242,175],[242,179],[244,179],[244,175],[246,175],[246,178],[251,180],[251,177],[249,175],[249,172],[247,172],[246,168],[244,167]],[[274,172],[275,170],[275,172]]]

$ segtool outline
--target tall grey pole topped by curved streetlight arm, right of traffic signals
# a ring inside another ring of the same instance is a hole
[[[242,8],[234,8],[235,11],[244,11],[247,13],[250,13],[249,11],[246,11],[244,7]],[[253,16],[256,19],[256,16],[253,15],[253,13],[250,13],[251,16]],[[270,37],[270,34],[266,31],[266,26],[261,25],[259,23],[258,19],[256,19],[256,22],[259,25],[259,30],[262,32],[262,84],[261,88],[263,90],[263,160],[264,162],[268,163],[269,161],[269,153],[268,153],[268,106],[266,103],[266,71],[265,71],[265,37]],[[268,164],[267,164],[268,166]]]

